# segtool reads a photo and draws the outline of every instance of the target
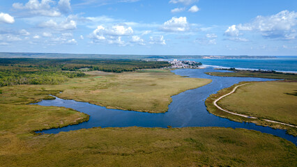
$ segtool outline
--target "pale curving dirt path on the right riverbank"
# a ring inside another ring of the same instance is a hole
[[[247,84],[250,84],[250,83],[247,83]],[[220,109],[220,110],[222,110],[222,111],[224,111],[224,112],[231,113],[231,114],[236,115],[236,116],[242,116],[242,117],[245,117],[245,118],[257,119],[257,117],[245,116],[245,115],[240,114],[240,113],[233,113],[233,112],[231,112],[231,111],[227,111],[227,110],[225,110],[225,109],[222,109],[222,108],[221,108],[220,106],[218,106],[218,104],[217,104],[217,102],[218,102],[219,100],[221,100],[222,98],[224,98],[224,97],[226,97],[226,96],[231,95],[232,93],[234,93],[235,90],[236,90],[238,87],[240,87],[240,86],[244,86],[244,85],[247,85],[247,84],[242,84],[242,85],[236,86],[230,93],[227,93],[226,95],[222,95],[222,96],[219,97],[217,100],[215,100],[215,101],[213,102],[213,104],[214,104],[218,109]],[[266,120],[266,119],[263,119],[263,120]],[[287,125],[287,126],[289,126],[289,127],[296,127],[295,125],[290,125],[290,124],[286,124],[286,123],[283,123],[283,122],[277,122],[277,121],[274,121],[274,120],[266,120],[266,121],[268,121],[268,122],[273,122],[273,123],[278,123],[278,124],[281,124],[281,125]]]

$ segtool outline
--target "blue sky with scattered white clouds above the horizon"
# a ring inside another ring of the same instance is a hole
[[[297,1],[0,1],[0,51],[297,56]]]

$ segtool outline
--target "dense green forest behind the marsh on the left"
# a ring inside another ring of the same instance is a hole
[[[82,70],[129,72],[168,66],[170,66],[169,63],[165,61],[0,58],[0,86],[61,84],[70,78],[84,77]]]

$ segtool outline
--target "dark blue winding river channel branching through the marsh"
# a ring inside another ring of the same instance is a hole
[[[89,104],[87,102],[76,102],[75,100],[63,100],[56,97],[56,100],[43,100],[36,104],[41,106],[64,106],[76,111],[89,114],[87,122],[78,125],[69,125],[57,129],[43,130],[45,134],[57,134],[71,130],[92,128],[92,127],[232,127],[253,129],[259,132],[273,134],[286,138],[297,145],[297,137],[286,134],[285,130],[262,127],[254,123],[234,122],[226,118],[220,118],[208,113],[204,101],[222,88],[228,88],[240,81],[273,81],[273,79],[260,79],[248,77],[214,77],[204,72],[220,72],[212,67],[205,69],[178,69],[173,70],[175,74],[191,78],[212,79],[211,84],[200,88],[186,90],[183,93],[172,96],[172,103],[166,113],[142,113],[137,111],[123,111],[119,109],[106,109],[103,106]],[[222,71],[223,72],[223,71]],[[225,71],[224,71],[225,72]]]

